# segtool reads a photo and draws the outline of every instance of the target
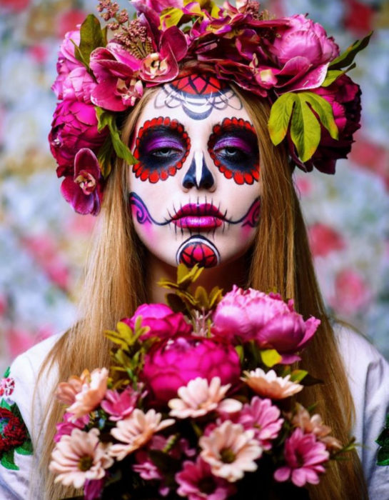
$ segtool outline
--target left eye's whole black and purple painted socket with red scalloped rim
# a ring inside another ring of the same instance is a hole
[[[163,116],[147,120],[136,138],[133,156],[138,163],[133,165],[133,173],[152,184],[166,181],[181,169],[190,149],[191,139],[177,120]]]

